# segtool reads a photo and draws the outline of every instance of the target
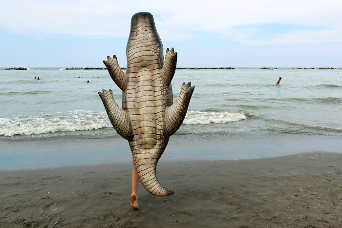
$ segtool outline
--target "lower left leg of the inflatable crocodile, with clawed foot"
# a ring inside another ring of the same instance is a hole
[[[105,105],[110,123],[119,135],[126,140],[131,141],[133,139],[133,131],[128,113],[116,104],[113,98],[113,93],[110,89],[109,91],[106,89],[103,89],[102,91],[102,93],[99,92],[99,95]]]

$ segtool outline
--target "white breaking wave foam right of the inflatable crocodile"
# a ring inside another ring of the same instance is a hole
[[[239,112],[202,112],[189,110],[183,124],[225,124],[239,120],[246,120],[245,113]]]

